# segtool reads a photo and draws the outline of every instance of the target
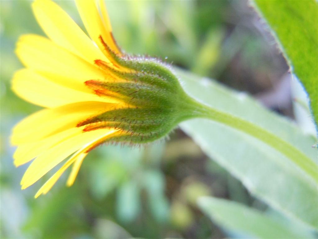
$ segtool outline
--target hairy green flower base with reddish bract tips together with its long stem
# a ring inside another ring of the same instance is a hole
[[[262,127],[192,99],[183,91],[169,66],[157,59],[119,56],[112,52],[101,38],[100,40],[118,69],[100,60],[96,60],[95,63],[116,80],[89,80],[86,81],[86,85],[101,97],[105,95],[120,99],[126,102],[127,106],[106,111],[80,122],[78,126],[85,126],[84,131],[115,128],[121,130],[121,134],[112,137],[109,142],[142,144],[168,135],[184,120],[207,118],[249,134],[275,148],[300,166],[301,170],[317,183],[316,163],[288,142]]]

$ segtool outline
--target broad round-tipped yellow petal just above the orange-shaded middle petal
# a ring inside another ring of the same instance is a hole
[[[108,98],[99,97],[96,94],[73,90],[54,83],[31,69],[22,69],[14,74],[12,90],[20,98],[47,108],[82,101],[110,101]]]

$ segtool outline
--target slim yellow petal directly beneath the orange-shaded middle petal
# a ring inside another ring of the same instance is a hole
[[[54,147],[55,145],[65,141],[68,138],[82,133],[83,128],[84,127],[67,129],[65,131],[46,137],[45,139],[40,141],[20,144],[13,154],[14,165],[18,167],[24,163],[31,161],[44,151]]]

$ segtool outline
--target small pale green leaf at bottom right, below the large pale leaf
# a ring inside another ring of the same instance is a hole
[[[243,204],[201,197],[198,205],[212,221],[231,232],[243,234],[244,238],[310,238],[310,235],[303,235],[295,228],[292,230],[278,219]]]

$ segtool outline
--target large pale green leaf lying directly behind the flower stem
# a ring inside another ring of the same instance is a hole
[[[317,149],[311,147],[315,138],[303,134],[291,121],[269,112],[244,93],[182,71],[178,75],[184,90],[193,98],[266,129],[316,164]],[[317,228],[317,184],[299,165],[263,141],[215,121],[195,119],[180,126],[253,195],[282,214]]]

